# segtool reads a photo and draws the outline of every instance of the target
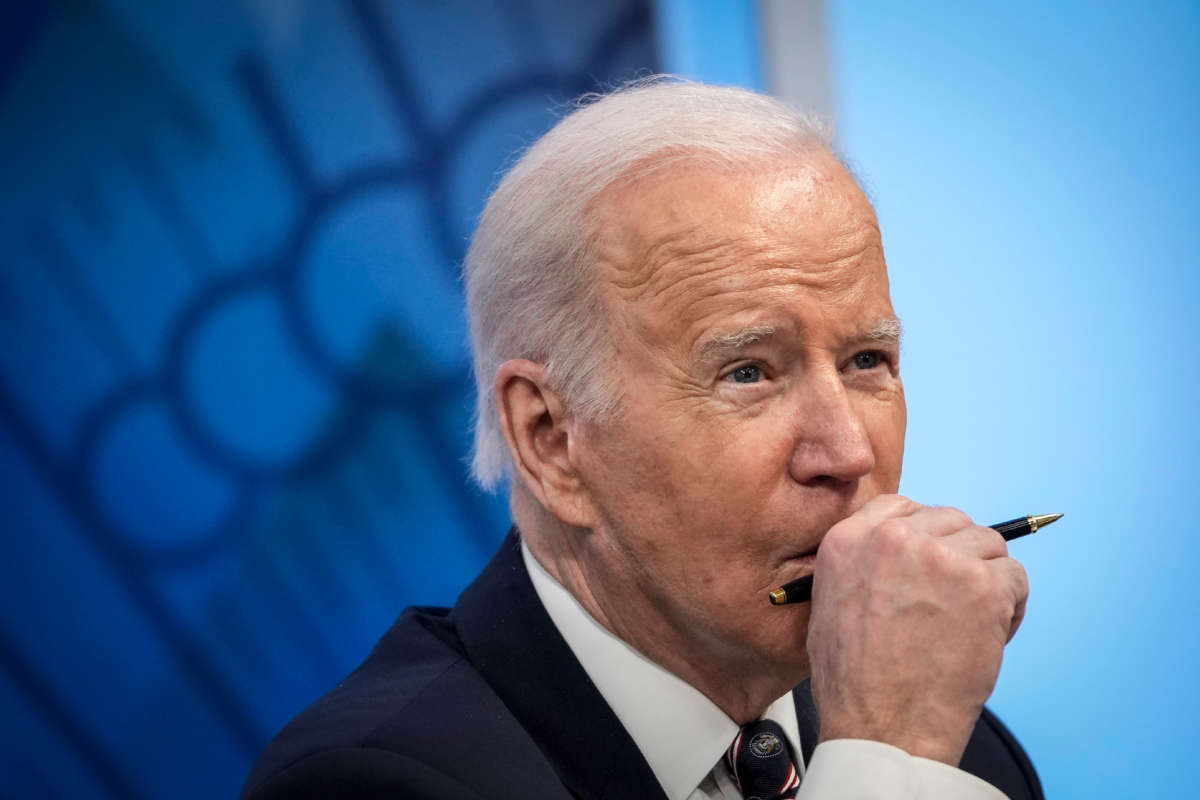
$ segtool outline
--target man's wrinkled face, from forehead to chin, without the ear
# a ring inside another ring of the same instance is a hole
[[[900,481],[899,330],[875,213],[812,154],[674,169],[611,192],[601,218],[623,404],[577,432],[596,602],[643,650],[666,630],[665,646],[806,672],[808,604],[767,593]]]

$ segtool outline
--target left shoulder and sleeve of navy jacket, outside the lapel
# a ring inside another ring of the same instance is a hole
[[[404,612],[371,656],[271,741],[245,800],[563,793],[458,643],[445,609]]]

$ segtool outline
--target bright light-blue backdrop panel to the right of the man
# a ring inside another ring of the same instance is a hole
[[[1200,6],[836,2],[905,320],[901,489],[1067,516],[992,699],[1050,798],[1196,796]]]

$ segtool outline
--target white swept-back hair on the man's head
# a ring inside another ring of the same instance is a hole
[[[493,396],[504,361],[544,365],[583,419],[619,407],[619,387],[605,381],[616,354],[589,252],[600,194],[672,164],[734,169],[814,149],[832,152],[828,127],[773,97],[655,76],[582,97],[516,161],[487,200],[463,270],[480,486],[511,476]]]

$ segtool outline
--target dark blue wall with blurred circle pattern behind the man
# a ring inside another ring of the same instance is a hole
[[[504,535],[466,481],[458,261],[565,101],[658,68],[653,12],[24,5],[0,24],[0,794],[230,796]]]

